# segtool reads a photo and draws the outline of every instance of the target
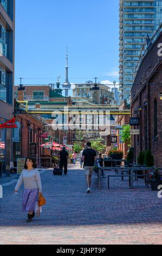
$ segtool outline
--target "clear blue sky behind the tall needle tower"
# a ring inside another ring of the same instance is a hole
[[[119,1],[16,0],[15,84],[63,83],[66,47],[70,83],[118,82]]]

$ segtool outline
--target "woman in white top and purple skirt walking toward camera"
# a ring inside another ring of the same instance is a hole
[[[42,193],[41,177],[36,167],[35,160],[31,157],[27,157],[24,169],[15,187],[15,192],[17,192],[22,183],[24,184],[22,209],[23,211],[29,212],[27,222],[31,222],[32,218],[34,218],[35,204],[38,200],[38,196]]]

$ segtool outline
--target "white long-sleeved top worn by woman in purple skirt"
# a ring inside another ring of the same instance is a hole
[[[37,169],[23,169],[20,178],[17,181],[15,190],[19,190],[22,183],[24,188],[38,188],[38,192],[42,192],[41,176]]]

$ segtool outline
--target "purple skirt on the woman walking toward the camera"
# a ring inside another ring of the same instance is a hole
[[[25,188],[23,192],[22,208],[23,211],[34,211],[38,200],[37,188]]]

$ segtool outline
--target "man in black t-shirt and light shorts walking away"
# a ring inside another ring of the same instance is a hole
[[[86,181],[87,181],[87,193],[90,192],[90,184],[92,181],[92,174],[93,174],[93,168],[94,163],[96,161],[97,155],[96,151],[91,148],[91,143],[87,142],[87,149],[83,150],[82,153],[82,161],[84,162],[85,166],[85,175],[86,175]]]

